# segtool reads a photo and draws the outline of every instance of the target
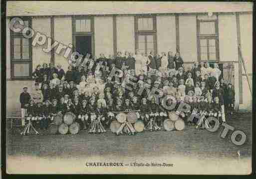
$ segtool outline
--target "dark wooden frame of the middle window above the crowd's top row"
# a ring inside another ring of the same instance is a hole
[[[153,29],[152,30],[138,30],[138,19],[139,18],[152,18],[153,19]],[[154,46],[154,53],[157,54],[157,23],[156,23],[156,15],[135,15],[134,16],[134,29],[135,29],[135,51],[139,47],[139,35],[153,35],[153,46]],[[145,37],[145,52],[148,54],[149,51],[147,50],[147,37]],[[149,54],[148,54],[149,55]]]

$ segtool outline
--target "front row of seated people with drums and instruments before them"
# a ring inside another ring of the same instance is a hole
[[[78,130],[88,129],[88,133],[92,134],[104,133],[106,129],[110,128],[116,135],[123,133],[134,135],[136,132],[144,130],[158,131],[162,128],[166,131],[175,128],[183,130],[185,127],[184,121],[186,121],[186,118],[189,119],[191,113],[202,116],[200,119],[187,121],[189,125],[196,125],[197,128],[209,127],[204,122],[207,116],[217,118],[222,116],[219,100],[215,99],[213,103],[211,96],[209,96],[209,99],[195,97],[193,102],[191,102],[189,96],[185,96],[184,102],[191,106],[191,111],[187,113],[177,111],[181,101],[176,101],[176,107],[172,111],[164,109],[155,102],[155,96],[151,96],[150,100],[144,97],[141,101],[138,101],[138,97],[132,95],[125,100],[116,99],[115,102],[110,99],[107,105],[104,104],[105,100],[101,95],[92,95],[88,100],[84,99],[82,101],[79,101],[78,98],[71,100],[68,96],[65,96],[59,102],[56,99],[53,99],[51,103],[46,100],[44,105],[42,103],[35,105],[34,101],[30,100],[27,106],[28,117],[26,119],[33,126],[39,125],[42,130],[48,129],[52,124],[56,126],[69,121],[66,125],[75,122],[77,128],[79,128]],[[170,106],[173,102],[173,99],[168,99],[167,105]],[[77,131],[75,133],[78,133],[78,130],[75,130]],[[72,134],[72,132],[70,133]]]

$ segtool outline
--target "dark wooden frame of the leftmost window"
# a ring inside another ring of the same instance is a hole
[[[28,27],[32,28],[31,17],[20,17],[23,21],[28,21]],[[20,59],[14,59],[14,38],[20,38]],[[23,39],[25,37],[22,33],[16,33],[10,31],[10,78],[11,80],[32,80],[32,38],[28,39],[28,59],[22,59],[23,52]],[[28,64],[28,76],[14,76],[14,65],[15,64]]]

